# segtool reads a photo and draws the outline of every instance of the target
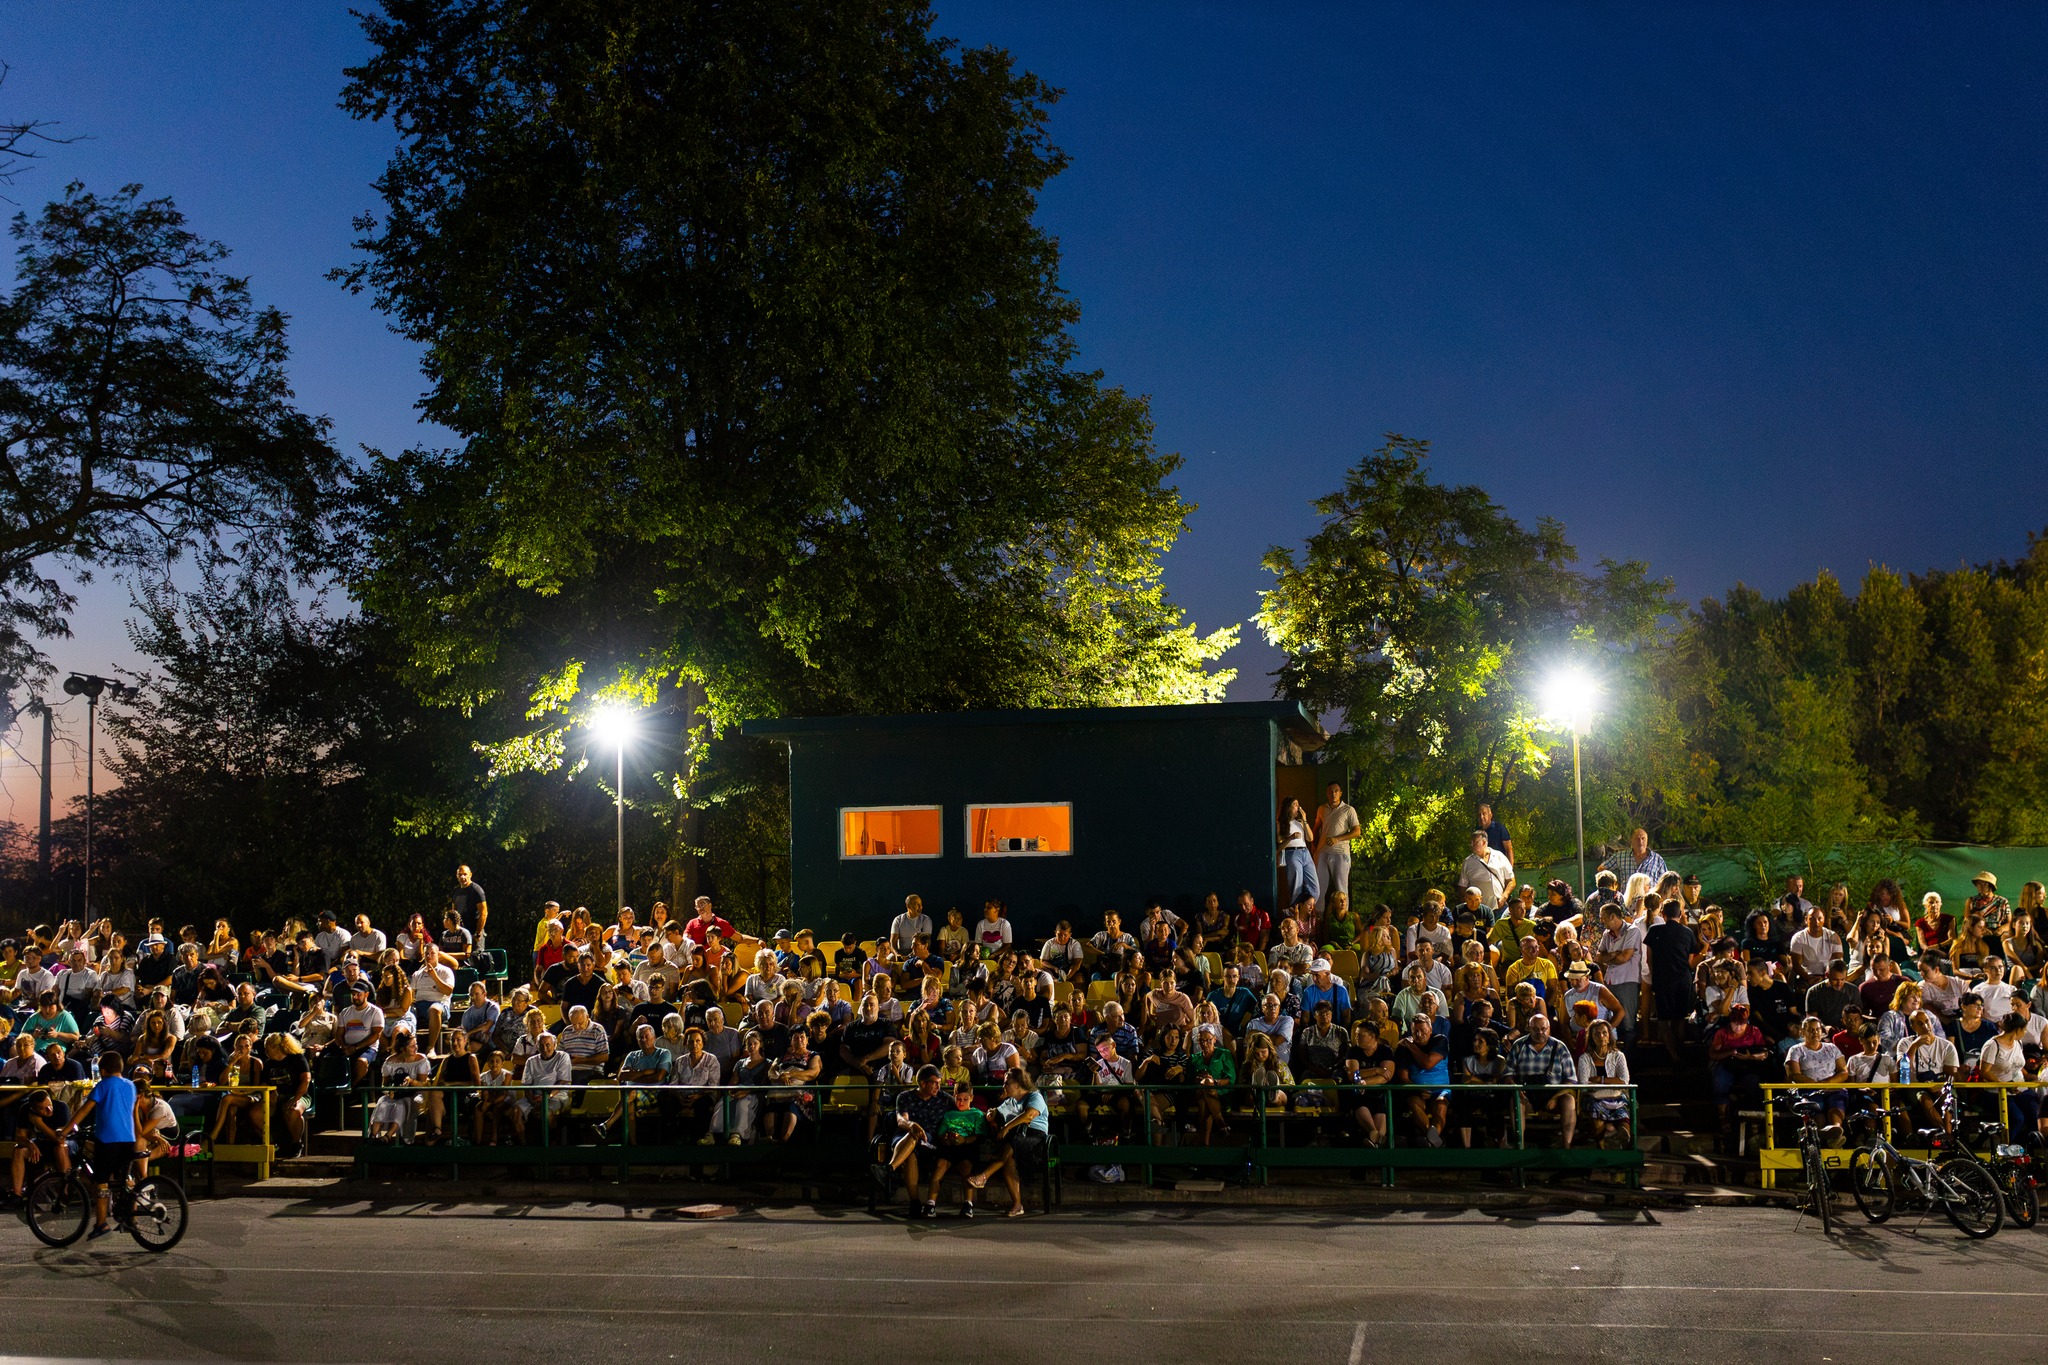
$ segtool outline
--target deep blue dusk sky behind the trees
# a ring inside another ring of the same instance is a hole
[[[1378,434],[1690,598],[2019,555],[2048,524],[2040,4],[942,4],[1065,88],[1044,196],[1090,364],[1153,397],[1204,626]],[[414,438],[322,274],[387,137],[342,4],[10,6],[12,196],[141,180],[295,317],[303,401]],[[125,653],[96,591],[68,667]],[[1241,696],[1264,692],[1243,649]],[[12,776],[12,774],[10,774]]]

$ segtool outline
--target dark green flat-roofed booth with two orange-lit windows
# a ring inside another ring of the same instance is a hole
[[[1323,733],[1292,702],[750,720],[788,745],[797,925],[879,937],[903,896],[936,925],[1008,907],[1018,939],[1159,896],[1272,909],[1282,796]]]

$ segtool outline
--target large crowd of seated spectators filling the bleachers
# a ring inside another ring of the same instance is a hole
[[[1278,1113],[1319,1142],[1505,1146],[1520,1089],[1559,1144],[1628,1146],[1630,1050],[1704,1054],[1724,1121],[1763,1081],[2040,1074],[2038,884],[2009,907],[1985,874],[1960,917],[1933,894],[1909,917],[1888,882],[1851,913],[1843,888],[1817,907],[1792,878],[1729,925],[1642,831],[1583,902],[1520,882],[1487,810],[1454,890],[1397,917],[1317,884],[1329,821],[1284,817],[1296,898],[1278,913],[1251,892],[1188,915],[1155,900],[1026,941],[1001,900],[934,917],[911,894],[874,939],[819,943],[748,937],[702,896],[647,919],[549,902],[516,986],[485,972],[467,870],[438,925],[412,915],[389,939],[334,913],[246,941],[225,919],[150,921],[133,943],[106,921],[39,927],[0,945],[0,1085],[61,1107],[117,1052],[197,1087],[168,1095],[166,1124],[231,1144],[268,1117],[291,1152],[313,1095],[350,1087],[373,1091],[377,1142],[528,1142],[573,1087],[610,1083],[616,1103],[575,1109],[584,1140],[709,1146],[797,1140],[844,1081],[877,1179],[922,1181],[930,1212],[948,1171],[969,1191],[1001,1177],[1020,1207],[1055,1111],[1102,1144],[1227,1142]],[[231,1091],[254,1085],[268,1099]],[[51,1128],[25,1099],[0,1093],[14,1189]],[[2015,1113],[2036,1126],[2038,1091]]]

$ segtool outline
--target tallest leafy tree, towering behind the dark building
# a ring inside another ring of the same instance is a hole
[[[1188,505],[1075,364],[1053,92],[922,4],[387,0],[346,272],[451,450],[387,460],[362,600],[506,765],[608,690],[715,724],[1214,696]]]

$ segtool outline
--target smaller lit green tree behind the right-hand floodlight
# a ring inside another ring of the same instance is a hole
[[[1481,800],[1522,817],[1518,855],[1569,847],[1569,782],[1538,786],[1561,743],[1544,681],[1567,665],[1599,675],[1610,718],[1630,716],[1595,731],[1589,833],[1688,790],[1675,724],[1649,688],[1669,583],[1638,563],[1581,571],[1561,524],[1532,530],[1483,489],[1438,483],[1427,454],[1391,434],[1317,499],[1323,524],[1298,553],[1266,555],[1276,583],[1257,620],[1286,653],[1278,690],[1341,724],[1331,751],[1358,780],[1364,882],[1442,876]],[[1536,810],[1548,819],[1530,829]]]

